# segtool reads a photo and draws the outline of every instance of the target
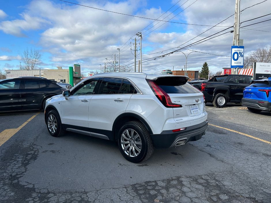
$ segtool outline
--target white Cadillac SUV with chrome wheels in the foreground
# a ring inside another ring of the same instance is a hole
[[[116,141],[130,162],[155,148],[201,139],[208,121],[202,92],[187,76],[100,73],[46,101],[45,123],[58,137],[71,131]],[[90,89],[84,86],[91,84]]]

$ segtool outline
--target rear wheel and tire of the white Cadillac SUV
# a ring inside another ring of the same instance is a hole
[[[139,163],[153,154],[150,134],[141,122],[127,122],[118,132],[118,147],[129,162]]]

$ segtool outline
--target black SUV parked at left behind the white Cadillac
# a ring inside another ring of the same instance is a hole
[[[42,77],[18,77],[0,81],[0,111],[44,109],[45,101],[65,88]]]

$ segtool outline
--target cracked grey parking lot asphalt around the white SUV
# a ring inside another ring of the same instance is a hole
[[[49,135],[43,112],[0,113],[0,202],[271,202],[270,112],[206,104],[202,139],[155,149],[139,164],[116,143]],[[247,136],[249,135],[249,136]]]

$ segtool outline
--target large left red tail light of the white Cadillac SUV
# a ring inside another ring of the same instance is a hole
[[[155,96],[161,101],[161,103],[168,108],[174,108],[174,107],[182,107],[180,104],[174,104],[172,103],[170,96],[162,89],[160,88],[157,84],[155,84],[154,81],[150,79],[146,79],[148,82],[148,85],[150,88],[153,90],[153,93]]]

